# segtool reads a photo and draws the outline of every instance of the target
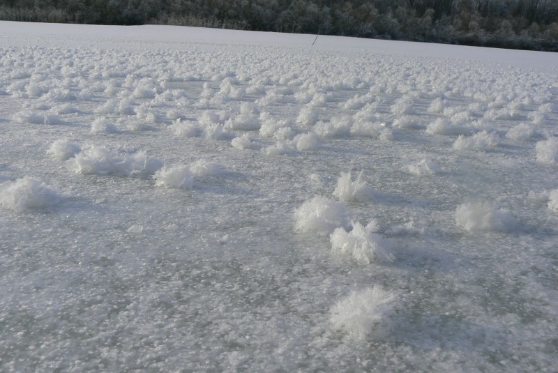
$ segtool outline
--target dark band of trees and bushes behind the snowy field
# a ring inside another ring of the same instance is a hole
[[[0,20],[178,24],[558,52],[557,0],[0,0]]]

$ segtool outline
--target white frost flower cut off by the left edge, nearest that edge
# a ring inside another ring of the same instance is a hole
[[[54,206],[61,197],[36,178],[24,176],[0,183],[0,206],[14,211]]]

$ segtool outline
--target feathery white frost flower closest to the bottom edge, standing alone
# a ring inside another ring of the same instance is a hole
[[[378,286],[353,291],[329,310],[331,328],[363,340],[372,330],[387,323],[396,297],[395,293]]]

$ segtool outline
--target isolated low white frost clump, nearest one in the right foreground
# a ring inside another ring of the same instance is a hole
[[[506,210],[488,202],[467,202],[455,210],[455,223],[467,231],[509,231],[517,221]]]

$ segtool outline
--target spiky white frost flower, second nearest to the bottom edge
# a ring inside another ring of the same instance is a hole
[[[349,254],[361,264],[372,261],[393,261],[393,256],[386,251],[386,241],[376,232],[379,230],[376,220],[365,227],[360,222],[353,222],[352,229],[337,228],[329,236],[331,252]]]

